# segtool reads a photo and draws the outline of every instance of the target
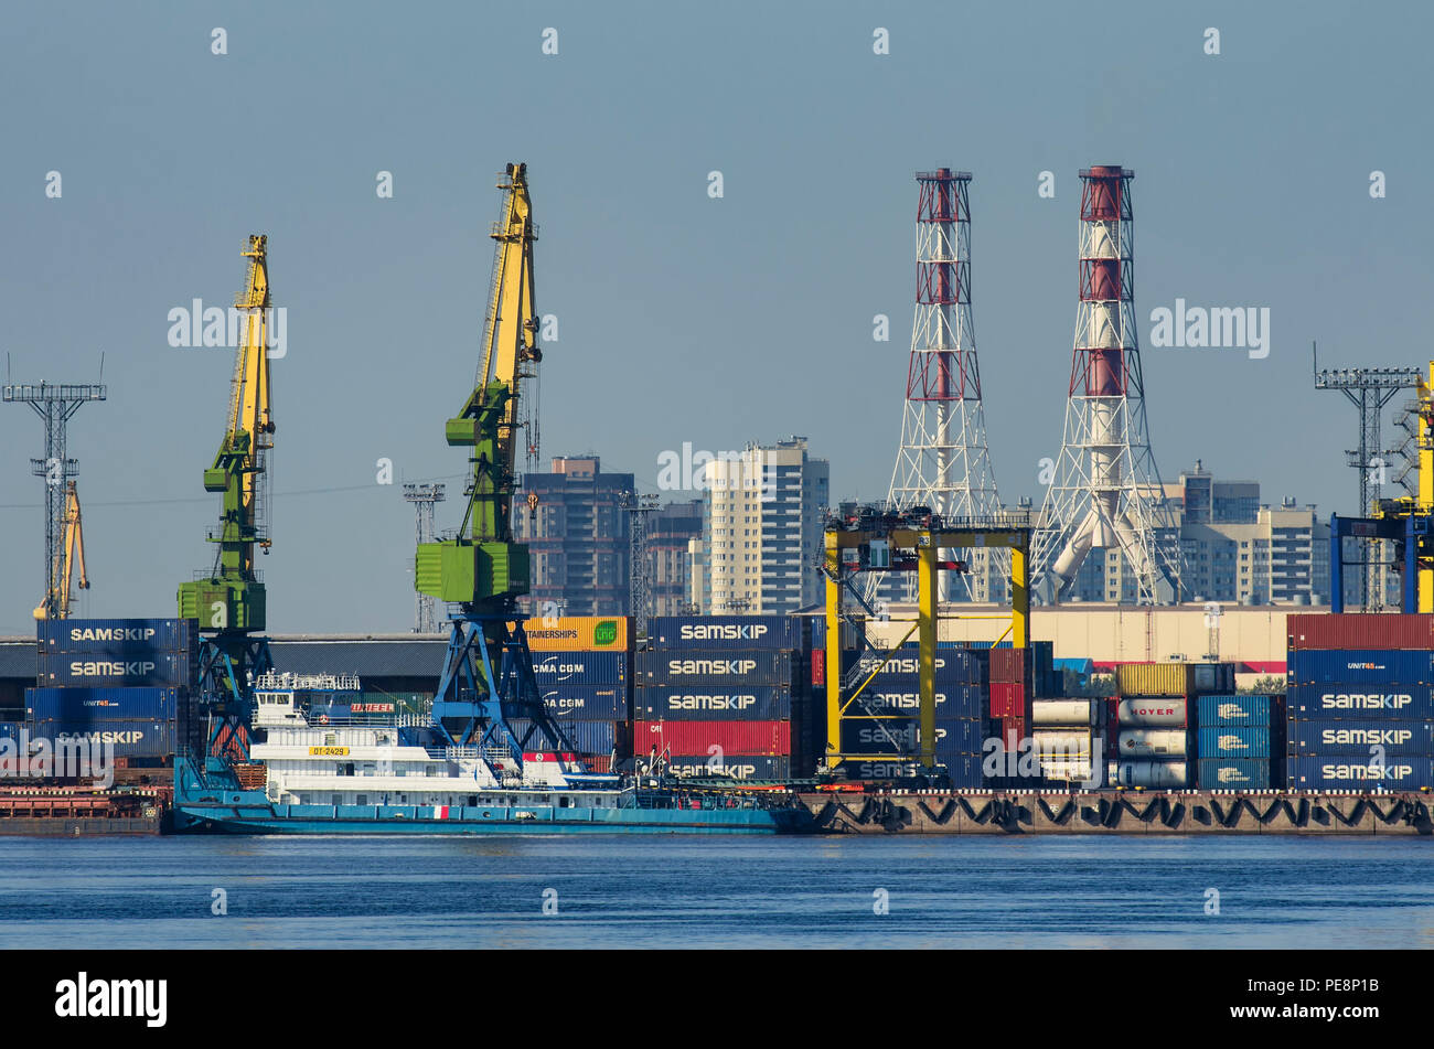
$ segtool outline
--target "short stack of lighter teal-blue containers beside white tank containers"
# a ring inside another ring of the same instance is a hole
[[[1202,790],[1269,790],[1281,782],[1276,755],[1283,732],[1272,695],[1202,695],[1196,785]]]

